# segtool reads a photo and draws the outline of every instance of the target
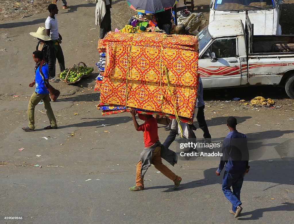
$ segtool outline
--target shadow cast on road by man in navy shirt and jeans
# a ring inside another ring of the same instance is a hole
[[[244,212],[241,213],[242,216],[251,215],[248,218],[238,218],[238,220],[258,220],[259,218],[263,217],[264,212],[274,212],[274,211],[294,211],[294,204],[289,202],[282,203],[283,205],[278,205],[275,207],[268,207],[268,208],[258,208],[251,212]]]

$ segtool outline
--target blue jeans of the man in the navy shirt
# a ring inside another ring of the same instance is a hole
[[[223,175],[223,193],[226,198],[232,203],[232,210],[236,212],[238,205],[241,205],[240,193],[243,184],[244,173],[231,174],[225,171]],[[231,191],[231,187],[233,192]]]

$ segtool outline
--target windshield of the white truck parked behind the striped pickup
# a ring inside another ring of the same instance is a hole
[[[214,9],[231,10],[268,10],[275,6],[273,0],[216,0]]]

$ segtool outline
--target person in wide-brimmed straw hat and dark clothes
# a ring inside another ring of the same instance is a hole
[[[54,78],[56,54],[53,48],[53,42],[51,41],[51,38],[46,35],[46,29],[40,26],[37,32],[30,32],[30,35],[36,37],[39,40],[36,46],[36,51],[39,50],[43,52],[44,59],[48,63],[49,79]]]

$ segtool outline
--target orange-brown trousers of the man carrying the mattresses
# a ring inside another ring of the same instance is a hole
[[[177,176],[173,171],[171,171],[166,165],[162,164],[161,161],[161,154],[160,154],[160,147],[154,149],[152,153],[152,164],[158,169],[163,175],[168,177],[169,179],[173,180],[173,182],[181,180],[181,177]],[[136,170],[136,186],[137,187],[144,187],[144,176],[141,176],[141,160],[137,163],[137,170]]]

